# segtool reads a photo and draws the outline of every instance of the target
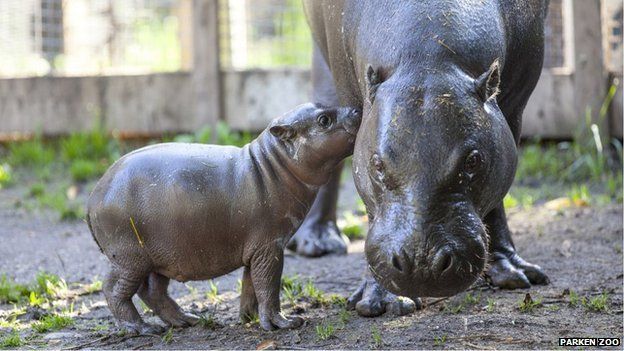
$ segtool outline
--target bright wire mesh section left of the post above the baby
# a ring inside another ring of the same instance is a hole
[[[0,75],[99,75],[182,66],[181,0],[2,0]]]

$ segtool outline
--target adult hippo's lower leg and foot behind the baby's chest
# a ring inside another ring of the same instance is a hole
[[[321,187],[308,216],[290,239],[288,249],[307,257],[347,253],[349,239],[340,233],[336,225],[341,171],[342,164],[336,168],[329,182]]]

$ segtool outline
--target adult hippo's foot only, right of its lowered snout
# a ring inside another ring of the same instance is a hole
[[[544,285],[550,279],[538,265],[529,263],[515,251],[491,254],[490,269],[486,275],[492,284],[503,289],[528,288],[531,284]]]

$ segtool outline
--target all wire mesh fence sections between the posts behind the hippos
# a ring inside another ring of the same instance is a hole
[[[191,69],[192,1],[0,0],[0,77]],[[312,39],[300,0],[216,1],[224,69],[309,67]],[[545,68],[566,64],[563,3],[550,1]],[[605,61],[621,71],[622,5],[609,4]]]

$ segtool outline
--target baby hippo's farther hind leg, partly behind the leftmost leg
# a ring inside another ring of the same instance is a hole
[[[185,313],[169,296],[169,278],[150,273],[139,288],[139,297],[160,319],[174,327],[188,327],[197,324],[199,317]]]

